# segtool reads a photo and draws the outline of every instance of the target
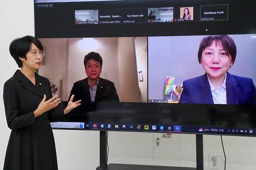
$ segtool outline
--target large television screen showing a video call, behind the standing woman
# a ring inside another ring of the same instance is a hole
[[[256,136],[254,5],[35,0],[38,73],[60,108],[82,100],[51,126]]]

